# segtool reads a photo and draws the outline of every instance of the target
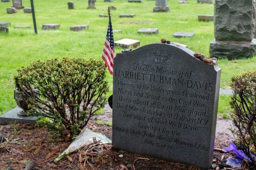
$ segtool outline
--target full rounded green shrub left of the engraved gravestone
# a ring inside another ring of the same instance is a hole
[[[28,113],[48,117],[50,127],[64,128],[73,137],[104,107],[104,79],[102,61],[81,58],[32,62],[15,76],[17,90],[29,98]]]

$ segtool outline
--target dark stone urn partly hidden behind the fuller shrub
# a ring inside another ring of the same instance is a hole
[[[33,91],[33,93],[37,93],[38,90]],[[24,96],[23,95],[24,92],[19,91],[17,88],[14,90],[14,99],[17,103],[17,105],[22,108],[23,110],[18,112],[17,115],[18,116],[28,116],[27,111],[29,110],[29,106],[28,106],[28,97],[21,97]]]

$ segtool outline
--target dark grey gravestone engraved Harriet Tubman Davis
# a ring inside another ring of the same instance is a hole
[[[212,165],[221,68],[176,44],[118,53],[113,68],[113,148]]]

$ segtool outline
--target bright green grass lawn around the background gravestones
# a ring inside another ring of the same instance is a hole
[[[113,0],[104,3],[97,0],[96,9],[86,9],[87,0],[74,0],[75,10],[68,10],[64,0],[34,0],[38,35],[34,34],[32,14],[24,14],[18,10],[16,14],[7,14],[6,8],[12,2],[0,3],[0,21],[9,21],[9,34],[0,34],[0,114],[16,106],[13,99],[14,75],[17,68],[29,65],[35,60],[47,60],[62,57],[83,57],[101,59],[105,42],[103,31],[108,27],[108,18],[99,17],[107,14],[108,6],[112,10],[113,29],[122,29],[122,33],[114,34],[114,40],[130,38],[140,40],[140,45],[160,42],[166,38],[172,42],[188,45],[192,51],[209,56],[209,43],[214,39],[213,22],[199,22],[198,14],[213,14],[213,4],[198,4],[189,0],[187,4],[179,4],[178,0],[168,0],[170,12],[153,12],[155,1],[144,0],[144,3],[128,3],[127,0]],[[23,0],[23,6],[30,7],[30,0]],[[119,14],[136,14],[134,18],[119,18]],[[43,31],[46,23],[58,23],[61,27],[56,31]],[[70,26],[89,24],[89,29],[80,32],[70,31]],[[14,26],[32,26],[29,29],[14,29]],[[157,35],[137,34],[140,28],[158,28]],[[194,32],[192,38],[174,38],[178,31]],[[115,48],[116,52],[122,51]],[[219,60],[222,68],[221,88],[228,88],[232,75],[245,70],[256,69],[256,57],[235,61]],[[112,77],[107,79],[112,87]],[[112,90],[109,94],[112,93]],[[230,109],[226,105],[227,97],[220,97],[220,113]],[[223,106],[223,107],[222,107]]]

